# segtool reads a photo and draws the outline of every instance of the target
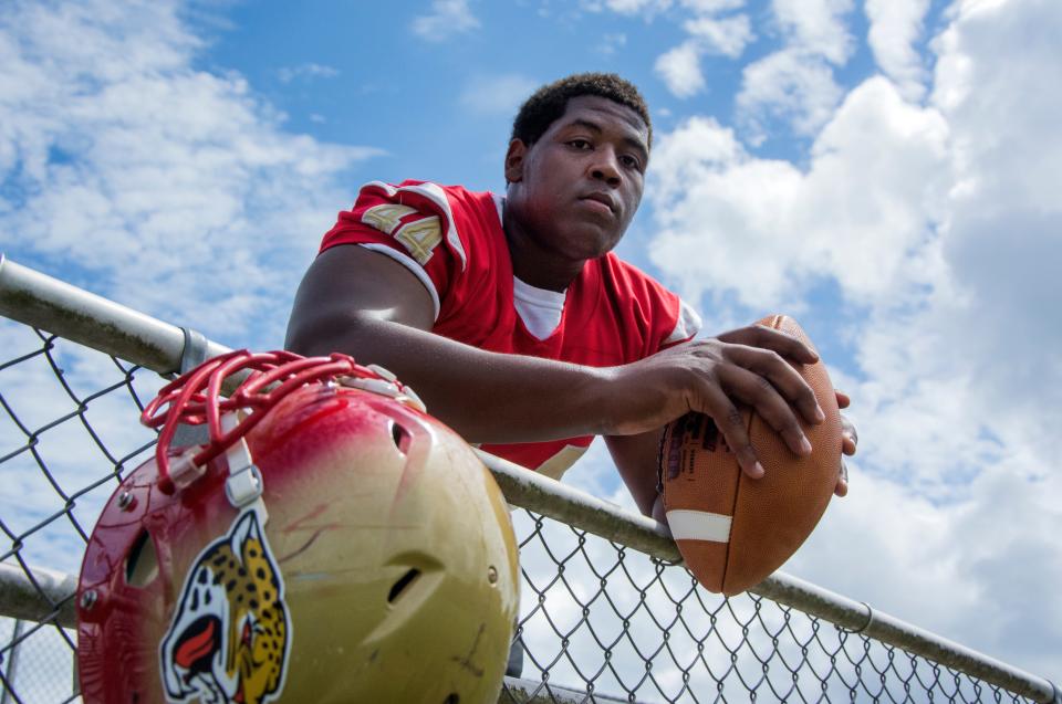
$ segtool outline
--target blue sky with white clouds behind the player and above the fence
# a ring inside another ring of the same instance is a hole
[[[1056,0],[8,2],[0,248],[275,347],[361,183],[501,189],[522,97],[620,72],[656,130],[621,254],[706,334],[791,313],[853,396],[785,569],[1058,676],[1060,35]],[[570,481],[629,505],[600,448]]]

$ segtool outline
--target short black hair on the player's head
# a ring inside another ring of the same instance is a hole
[[[653,123],[649,108],[638,88],[614,73],[576,73],[543,85],[524,101],[512,120],[512,137],[531,146],[539,140],[568,109],[568,101],[581,95],[597,95],[629,107],[645,120],[653,144]]]

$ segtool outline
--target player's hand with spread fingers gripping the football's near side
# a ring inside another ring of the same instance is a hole
[[[622,419],[611,434],[645,432],[688,411],[705,413],[716,421],[742,471],[759,479],[763,467],[738,403],[759,413],[794,453],[809,454],[811,443],[798,413],[809,423],[821,423],[825,417],[811,387],[790,361],[818,360],[818,355],[796,338],[762,325],[671,347],[615,368],[614,388],[624,398],[617,398],[614,408],[622,408],[627,419],[637,422]]]

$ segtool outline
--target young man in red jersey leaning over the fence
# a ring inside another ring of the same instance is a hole
[[[383,365],[469,442],[555,477],[604,435],[658,521],[660,433],[687,411],[716,420],[750,476],[763,470],[738,403],[810,452],[798,416],[816,423],[822,411],[785,359],[813,351],[759,326],[693,340],[696,314],[611,254],[642,199],[652,138],[637,88],[580,74],[521,107],[503,199],[368,183],[299,287],[288,347]],[[844,444],[855,451],[854,429]]]

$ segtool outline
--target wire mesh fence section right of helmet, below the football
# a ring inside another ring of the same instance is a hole
[[[623,701],[1020,702],[770,599],[521,511],[524,676]],[[502,701],[506,701],[502,697]],[[549,701],[549,700],[546,700]]]

